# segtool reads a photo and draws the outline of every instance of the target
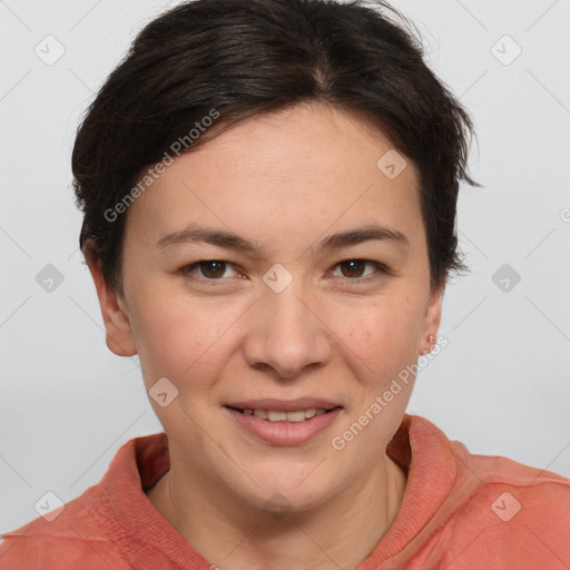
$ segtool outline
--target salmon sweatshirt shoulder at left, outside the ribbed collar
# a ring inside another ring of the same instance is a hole
[[[100,570],[130,568],[87,508],[94,488],[67,503],[62,511],[39,517],[2,534],[2,570]]]

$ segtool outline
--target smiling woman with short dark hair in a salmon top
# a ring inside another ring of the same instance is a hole
[[[558,568],[570,481],[405,414],[462,268],[471,121],[389,6],[196,0],[73,149],[107,345],[165,433],[2,568]],[[558,564],[558,566],[557,566]]]

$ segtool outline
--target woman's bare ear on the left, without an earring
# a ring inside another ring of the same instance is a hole
[[[105,281],[101,262],[92,250],[86,250],[86,261],[97,288],[108,348],[117,356],[137,354],[125,298]]]

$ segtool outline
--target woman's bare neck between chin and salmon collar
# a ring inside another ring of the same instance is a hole
[[[148,499],[219,570],[355,569],[390,529],[405,490],[405,474],[384,456],[374,472],[318,508],[271,515],[175,465]]]

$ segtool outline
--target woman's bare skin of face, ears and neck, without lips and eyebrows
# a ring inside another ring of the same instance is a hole
[[[109,348],[138,353],[147,390],[165,376],[179,391],[166,407],[150,399],[171,466],[148,498],[222,570],[353,569],[397,514],[405,474],[385,449],[413,381],[345,449],[331,443],[430,348],[440,324],[417,173],[407,160],[389,179],[376,161],[391,148],[374,127],[323,105],[256,117],[176,158],[129,208],[124,295],[88,258]],[[157,247],[188,224],[232,230],[263,250]],[[409,244],[318,248],[332,234],[372,224]],[[373,263],[351,273],[342,263],[351,259]],[[227,264],[179,272],[203,261]],[[276,263],[293,277],[281,293],[263,281]],[[258,441],[224,409],[302,396],[343,406],[302,445]],[[288,504],[281,519],[266,509],[276,492]]]

